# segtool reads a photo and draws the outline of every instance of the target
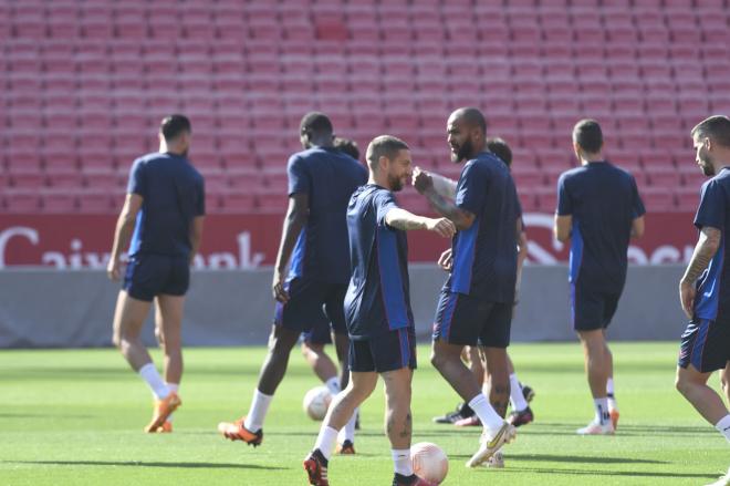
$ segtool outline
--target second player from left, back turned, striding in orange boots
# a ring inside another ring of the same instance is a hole
[[[272,282],[277,308],[269,353],[249,413],[234,423],[218,425],[225,437],[253,446],[263,440],[269,405],[302,331],[331,324],[338,339],[347,339],[344,332],[337,332],[346,325],[343,301],[350,280],[347,203],[367,180],[367,172],[333,146],[332,122],[322,113],[304,115],[300,139],[304,151],[292,155],[286,168],[289,209]],[[354,416],[347,426],[354,431]],[[353,448],[352,444],[344,446]]]

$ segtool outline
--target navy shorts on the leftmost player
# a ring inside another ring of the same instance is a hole
[[[185,296],[190,287],[190,262],[186,257],[135,255],[129,258],[123,288],[129,297],[150,302],[160,293]]]

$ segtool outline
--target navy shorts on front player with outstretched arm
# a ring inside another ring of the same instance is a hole
[[[386,331],[366,340],[350,340],[350,371],[416,369],[416,329],[414,327]]]

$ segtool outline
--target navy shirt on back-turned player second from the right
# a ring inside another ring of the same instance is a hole
[[[573,216],[571,283],[620,293],[632,223],[646,213],[636,180],[608,162],[591,162],[557,180],[557,215]]]

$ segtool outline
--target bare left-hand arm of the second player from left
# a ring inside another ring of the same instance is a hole
[[[310,197],[306,194],[293,194],[289,197],[289,208],[284,217],[284,225],[281,231],[281,241],[279,244],[279,252],[277,254],[277,263],[274,266],[273,282],[271,288],[273,290],[274,299],[279,302],[286,303],[289,294],[284,290],[284,279],[286,273],[286,265],[294,251],[296,239],[302,232],[302,228],[306,225],[310,215]]]

